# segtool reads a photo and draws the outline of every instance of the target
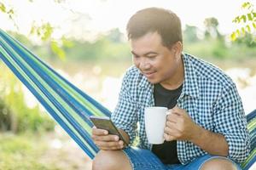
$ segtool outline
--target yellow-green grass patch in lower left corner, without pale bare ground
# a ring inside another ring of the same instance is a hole
[[[46,145],[40,137],[32,134],[14,135],[11,133],[0,134],[0,169],[49,169],[40,163],[38,157],[44,154]]]

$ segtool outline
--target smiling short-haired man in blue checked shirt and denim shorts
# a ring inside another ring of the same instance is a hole
[[[134,66],[125,74],[112,120],[129,144],[137,136],[138,144],[126,147],[94,128],[92,139],[101,150],[93,169],[240,169],[249,138],[235,83],[217,67],[183,54],[181,23],[170,10],[138,11],[127,33]],[[172,113],[164,144],[148,144],[144,108],[152,105]]]

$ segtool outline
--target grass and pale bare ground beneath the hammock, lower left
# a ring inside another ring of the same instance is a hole
[[[53,147],[53,141],[61,147]],[[0,133],[0,169],[90,169],[91,161],[66,133]]]

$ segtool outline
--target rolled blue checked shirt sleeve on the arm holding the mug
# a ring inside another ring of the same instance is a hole
[[[213,114],[215,133],[222,133],[229,144],[229,158],[245,161],[250,151],[247,121],[236,85],[224,87]]]

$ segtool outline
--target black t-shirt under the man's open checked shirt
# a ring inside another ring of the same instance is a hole
[[[160,84],[154,85],[154,105],[164,106],[172,109],[177,105],[177,99],[182,92],[182,85],[174,90],[163,88]],[[163,144],[153,144],[153,153],[160,158],[164,164],[180,163],[177,159],[177,141],[165,141]]]

